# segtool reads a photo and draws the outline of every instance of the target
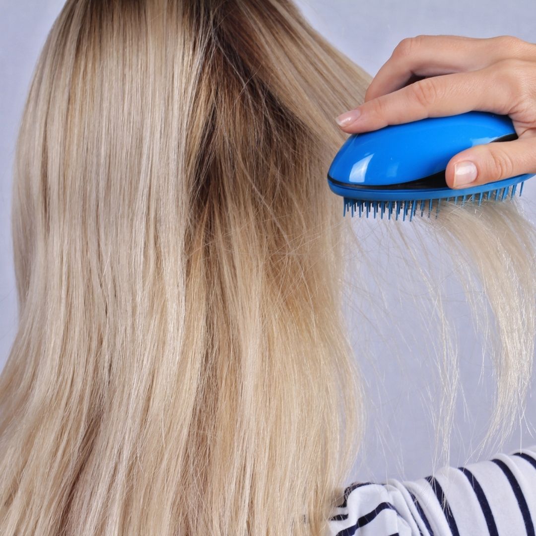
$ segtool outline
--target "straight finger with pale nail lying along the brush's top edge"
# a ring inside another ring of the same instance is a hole
[[[345,132],[358,133],[470,110],[509,114],[519,103],[518,80],[529,70],[532,63],[509,59],[479,71],[425,78],[365,102],[337,122]]]

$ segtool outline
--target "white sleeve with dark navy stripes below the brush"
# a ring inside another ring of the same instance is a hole
[[[330,536],[535,536],[536,446],[414,481],[348,486]]]

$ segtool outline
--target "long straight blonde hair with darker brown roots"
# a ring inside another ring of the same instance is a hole
[[[2,534],[325,530],[363,434],[325,172],[369,82],[285,0],[66,2],[17,145]]]

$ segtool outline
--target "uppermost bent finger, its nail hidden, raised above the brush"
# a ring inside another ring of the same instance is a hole
[[[536,58],[536,45],[510,35],[470,38],[418,35],[400,41],[371,81],[364,101],[404,87],[412,77],[446,75],[483,69],[507,58]]]

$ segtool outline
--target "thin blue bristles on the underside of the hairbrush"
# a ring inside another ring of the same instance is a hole
[[[523,182],[520,184],[519,195],[523,192]],[[518,183],[519,184],[519,183]],[[364,199],[351,199],[348,197],[344,198],[344,210],[343,216],[346,215],[346,212],[350,212],[352,217],[354,215],[359,215],[361,218],[363,215],[366,215],[368,218],[370,214],[373,215],[373,218],[376,218],[378,215],[380,219],[383,219],[384,215],[387,214],[388,219],[391,219],[391,215],[394,214],[394,219],[398,220],[400,213],[402,214],[402,220],[405,221],[406,217],[411,221],[416,213],[420,212],[420,215],[428,212],[428,218],[430,214],[435,209],[435,217],[440,211],[441,201],[454,200],[454,203],[457,204],[460,200],[460,206],[465,203],[478,203],[479,205],[483,200],[494,200],[494,201],[504,201],[510,196],[510,199],[515,195],[518,184],[512,184],[505,188],[498,188],[496,190],[489,190],[487,192],[480,193],[471,193],[470,195],[457,195],[446,198],[430,198],[430,199],[410,199],[410,200],[396,200],[396,201],[370,201]]]

